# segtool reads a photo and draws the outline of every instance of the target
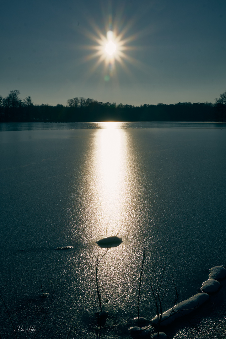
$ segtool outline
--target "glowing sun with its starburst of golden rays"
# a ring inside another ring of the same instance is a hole
[[[82,59],[82,63],[92,59],[96,59],[96,62],[93,63],[91,68],[87,68],[87,78],[96,72],[101,63],[104,64],[102,69],[102,79],[104,79],[104,81],[109,81],[113,78],[116,80],[118,78],[117,73],[121,72],[121,69],[127,73],[129,77],[133,78],[133,74],[128,67],[129,64],[138,69],[144,68],[139,60],[132,58],[129,55],[130,53],[128,53],[129,51],[138,50],[139,47],[135,46],[133,42],[142,34],[142,32],[137,32],[136,34],[128,36],[128,31],[130,27],[132,27],[133,21],[128,22],[125,27],[123,27],[123,24],[121,24],[119,20],[113,23],[111,16],[109,16],[109,20],[105,25],[105,33],[91,19],[89,24],[92,27],[92,31],[85,30],[83,34],[95,42],[95,44],[82,46],[82,48],[92,51]],[[118,66],[120,71],[118,69],[117,72]]]

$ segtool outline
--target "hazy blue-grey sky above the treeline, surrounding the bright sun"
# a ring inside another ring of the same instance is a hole
[[[90,58],[111,18],[128,48],[112,75]],[[37,104],[140,105],[214,102],[226,91],[225,0],[2,0],[0,34],[3,97],[19,89]]]

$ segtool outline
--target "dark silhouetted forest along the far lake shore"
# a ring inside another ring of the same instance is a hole
[[[226,91],[210,102],[132,106],[75,97],[67,105],[36,105],[30,96],[21,100],[18,89],[0,95],[1,122],[94,122],[94,121],[218,121],[226,120]]]

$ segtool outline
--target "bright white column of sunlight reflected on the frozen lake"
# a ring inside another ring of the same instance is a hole
[[[105,224],[109,236],[121,227],[125,195],[125,132],[116,128],[117,125],[118,122],[104,122],[106,128],[98,131],[96,145],[98,204],[105,220],[109,220]]]

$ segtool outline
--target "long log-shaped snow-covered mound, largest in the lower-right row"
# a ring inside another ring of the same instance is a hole
[[[193,312],[194,310],[196,310],[197,307],[202,305],[208,299],[209,295],[207,293],[198,293],[187,300],[179,302],[177,305],[173,307],[173,309],[170,308],[168,311],[162,314],[161,325],[167,326],[171,324],[171,322],[176,318],[182,317],[183,315]],[[158,317],[155,316],[151,320],[151,323],[153,325],[157,325]]]

